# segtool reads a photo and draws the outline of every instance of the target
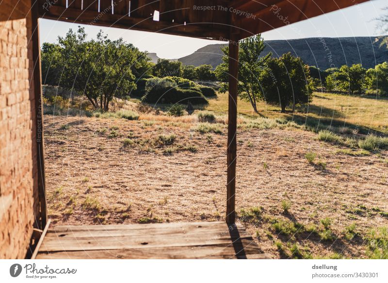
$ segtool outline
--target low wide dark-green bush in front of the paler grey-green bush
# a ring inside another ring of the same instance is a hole
[[[208,100],[199,91],[180,87],[152,88],[142,97],[142,102],[148,103],[187,104],[188,101],[193,104],[208,104]]]

